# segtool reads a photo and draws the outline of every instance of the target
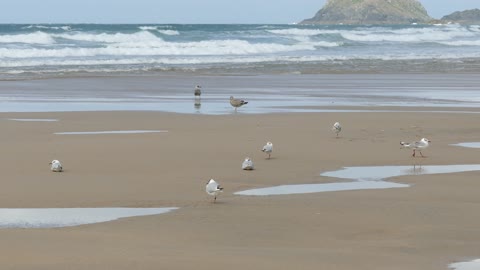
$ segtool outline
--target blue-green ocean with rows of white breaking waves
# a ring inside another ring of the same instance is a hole
[[[480,25],[0,25],[0,80],[479,71]]]

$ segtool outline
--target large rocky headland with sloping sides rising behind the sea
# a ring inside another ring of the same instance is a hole
[[[432,18],[417,0],[328,0],[301,24],[410,24]]]

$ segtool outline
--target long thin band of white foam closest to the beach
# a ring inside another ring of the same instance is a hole
[[[67,67],[72,66],[71,68],[65,69],[63,71],[85,71],[85,72],[96,72],[96,71],[103,71],[108,72],[110,71],[129,71],[131,68],[138,69],[138,67],[122,67],[127,65],[153,65],[150,68],[162,68],[161,65],[196,65],[196,64],[223,64],[223,63],[279,63],[279,62],[295,62],[295,63],[308,63],[308,62],[319,62],[319,61],[347,61],[347,60],[425,60],[425,59],[456,59],[456,58],[475,58],[480,57],[480,52],[476,53],[464,53],[463,55],[457,54],[444,54],[438,55],[435,52],[434,54],[422,54],[422,55],[410,55],[410,54],[399,54],[399,55],[312,55],[312,56],[289,56],[289,55],[250,55],[250,56],[237,56],[237,55],[204,55],[204,56],[176,56],[171,57],[168,55],[162,56],[155,56],[153,55],[145,55],[145,56],[135,56],[132,55],[130,57],[125,58],[89,58],[87,56],[94,57],[101,52],[106,52],[106,49],[92,49],[92,50],[82,50],[79,52],[72,51],[71,49],[62,51],[58,55],[55,55],[54,52],[49,51],[48,53],[51,54],[49,59],[44,58],[34,58],[36,50],[29,52],[31,55],[30,58],[15,58],[15,55],[12,55],[11,59],[1,60],[0,58],[0,67],[4,68],[18,68],[18,67],[36,67],[42,66],[42,72],[48,72],[46,67],[48,66],[61,66]],[[121,51],[121,50],[119,50]],[[125,50],[127,51],[127,50]],[[0,49],[0,55],[2,55],[2,49]],[[21,52],[18,52],[19,54]],[[124,55],[129,55],[130,53],[126,52]],[[28,54],[25,54],[28,55]],[[41,53],[37,53],[36,56],[42,55]],[[71,59],[62,58],[63,56],[75,56]],[[113,54],[112,54],[113,55]],[[117,52],[115,55],[122,56],[120,52]],[[21,55],[20,55],[21,56]],[[43,57],[48,57],[48,55],[43,55]],[[79,69],[78,67],[74,66],[105,66],[108,65],[110,67],[102,67],[101,69]],[[160,65],[155,67],[155,65]],[[185,68],[188,68],[185,67]],[[148,70],[149,67],[145,66],[144,69]],[[7,71],[3,71],[4,73],[8,74],[19,74],[22,72],[26,72],[27,70],[15,70],[9,69]],[[52,72],[58,72],[58,70],[52,70]]]

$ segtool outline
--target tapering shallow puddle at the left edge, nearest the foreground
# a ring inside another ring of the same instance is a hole
[[[177,208],[0,208],[0,228],[56,228],[158,215]]]

